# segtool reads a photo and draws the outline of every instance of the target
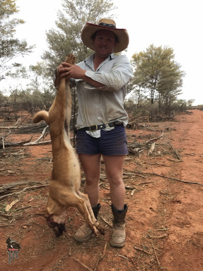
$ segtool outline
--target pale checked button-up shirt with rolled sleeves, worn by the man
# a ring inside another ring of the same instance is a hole
[[[133,77],[130,61],[125,55],[112,53],[95,71],[93,60],[94,54],[77,65],[86,70],[86,76],[105,86],[96,88],[82,79],[70,79],[70,86],[76,86],[78,97],[76,128],[113,121],[121,121],[126,126],[128,115],[123,103],[126,86]],[[100,137],[100,131],[86,132],[92,137]]]

